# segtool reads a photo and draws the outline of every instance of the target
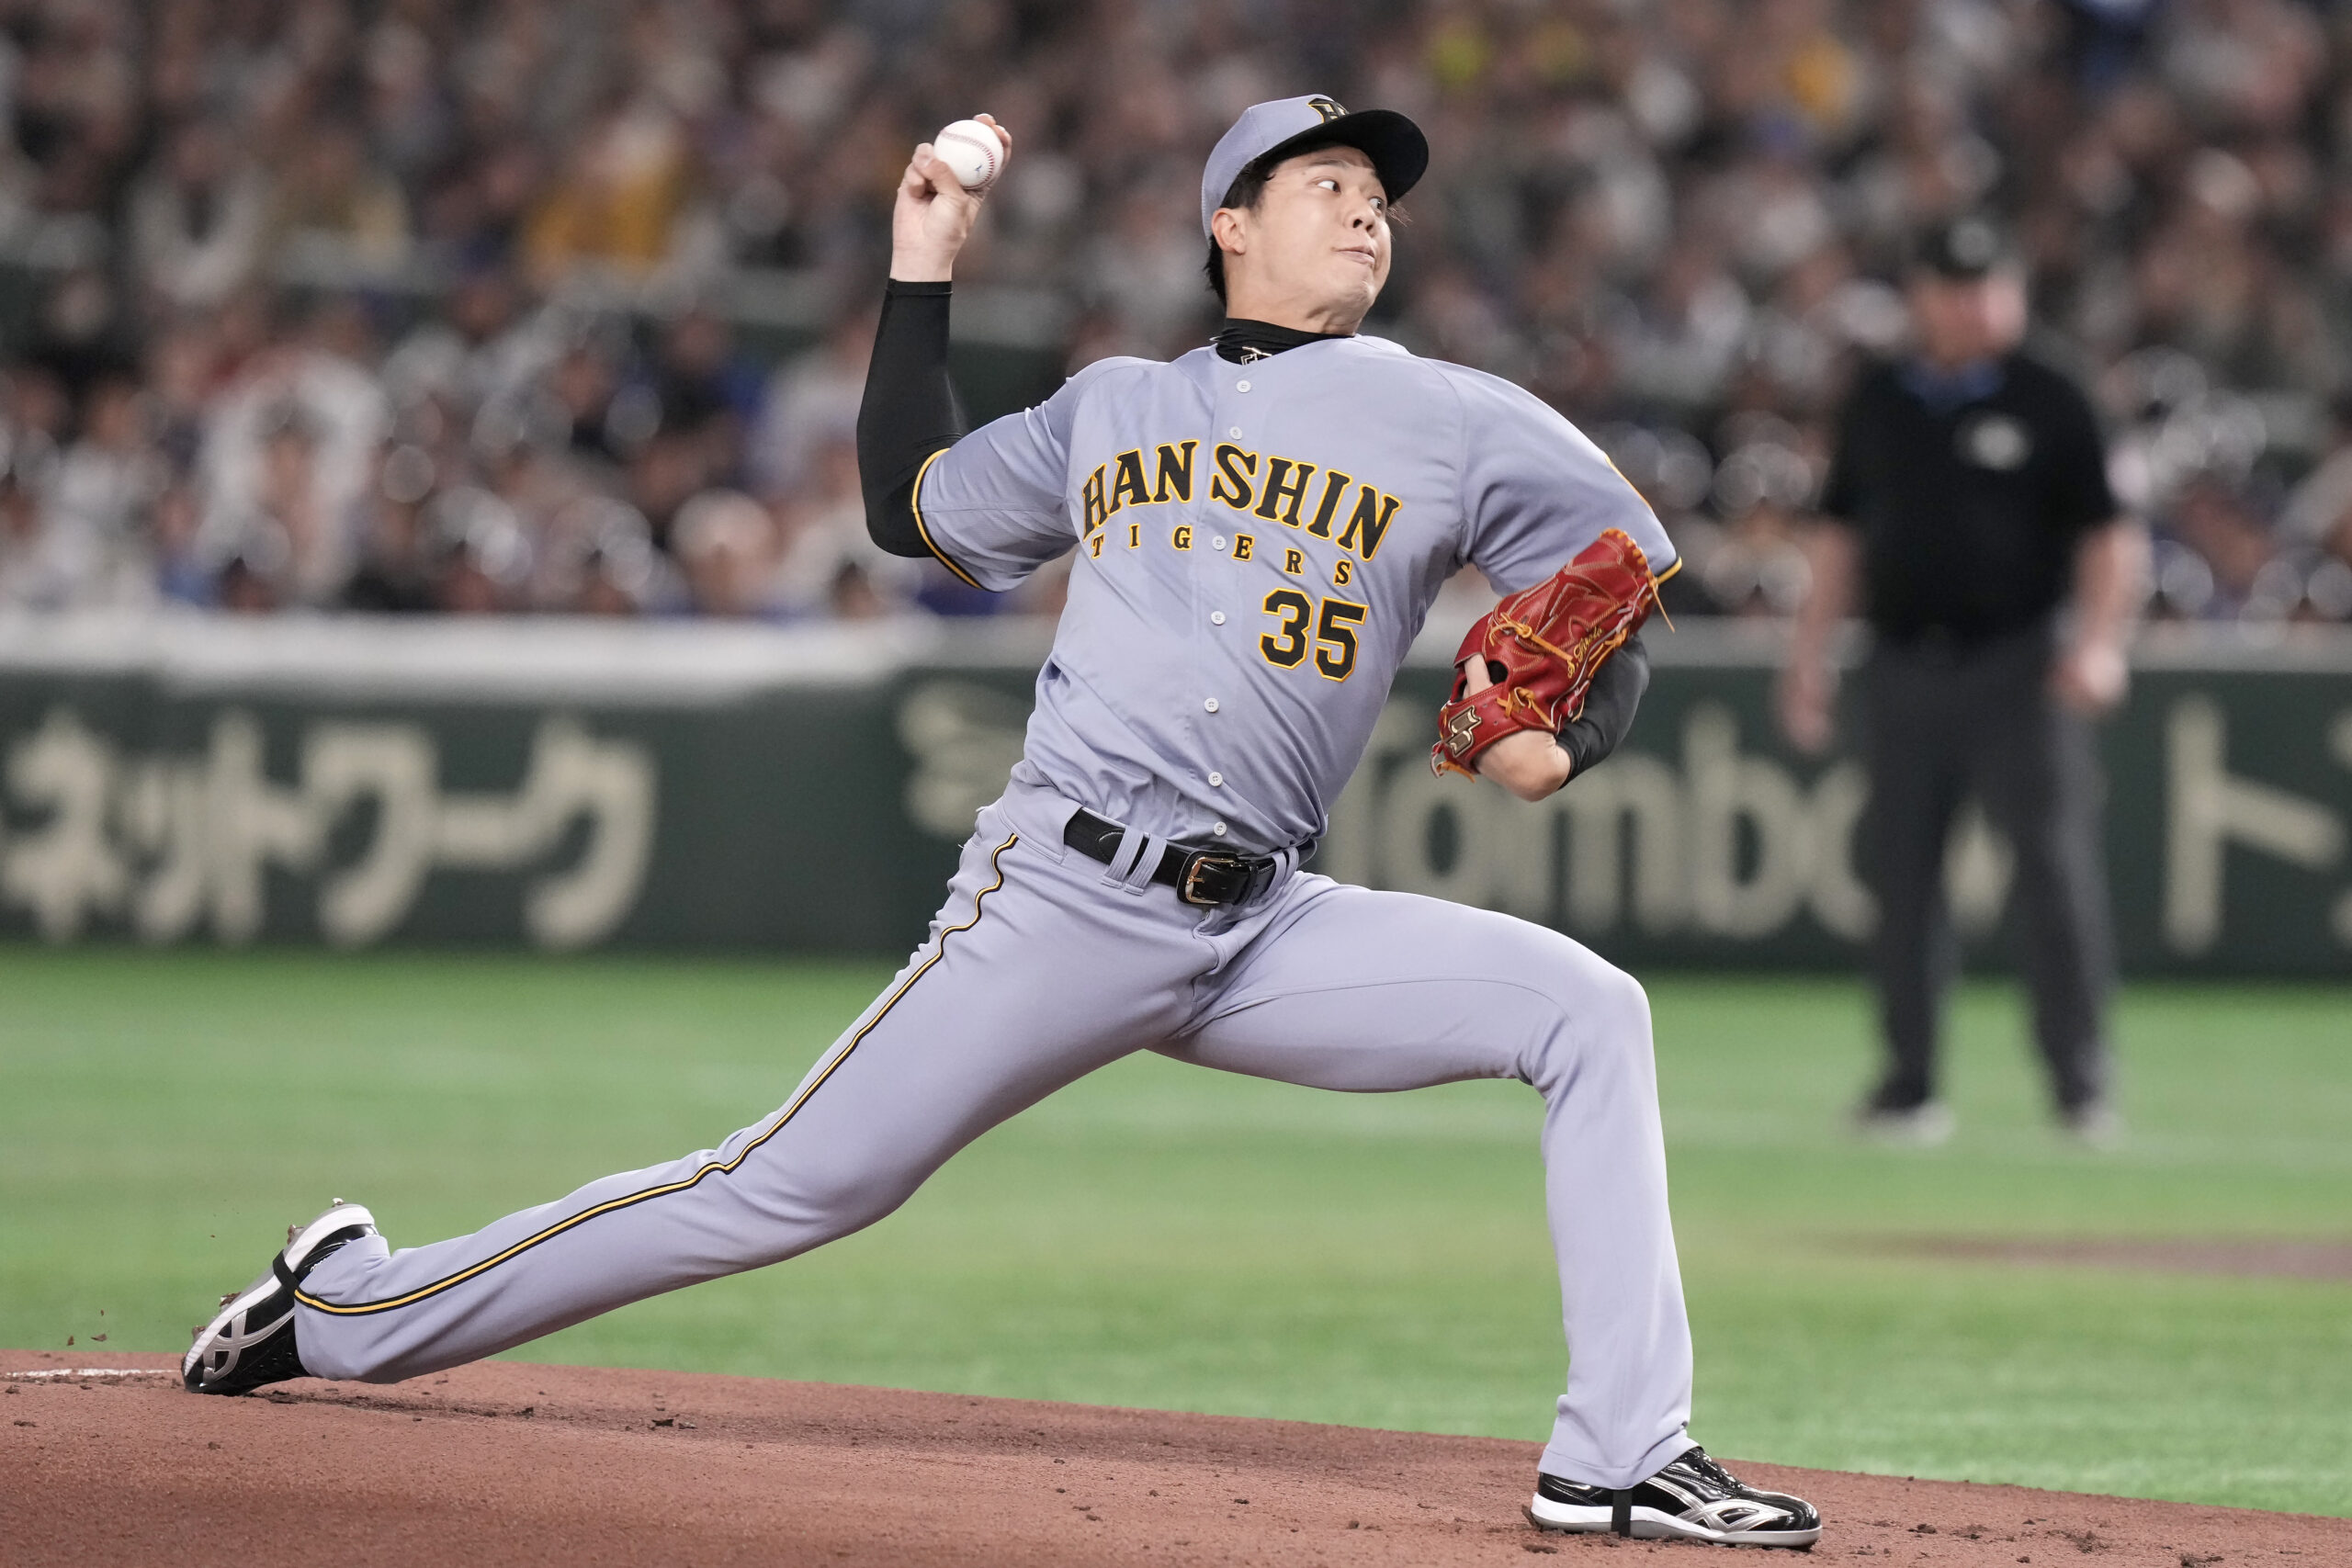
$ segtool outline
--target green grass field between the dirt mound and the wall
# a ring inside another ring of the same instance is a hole
[[[181,1349],[332,1194],[423,1241],[708,1147],[884,976],[0,947],[0,1345]],[[1710,1448],[2352,1516],[2352,1281],[1884,1246],[2352,1239],[2352,990],[2131,990],[2105,1157],[2044,1126],[2006,990],[1962,997],[1962,1133],[1924,1154],[1844,1133],[1856,985],[1651,997]],[[866,1234],[517,1354],[1538,1439],[1536,1098],[1136,1058]]]

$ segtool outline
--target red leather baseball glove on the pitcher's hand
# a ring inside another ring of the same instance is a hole
[[[1503,736],[1541,729],[1557,736],[1583,712],[1585,689],[1658,604],[1658,576],[1623,529],[1604,529],[1555,576],[1524,588],[1484,616],[1454,654],[1454,698],[1437,710],[1430,771],[1477,773],[1477,757]],[[1484,656],[1491,686],[1465,693],[1465,658]]]

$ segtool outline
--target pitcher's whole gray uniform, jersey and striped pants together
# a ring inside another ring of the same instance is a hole
[[[1656,520],[1534,397],[1388,343],[1089,367],[931,458],[924,536],[1004,588],[1077,550],[1028,757],[931,933],[769,1117],[470,1237],[365,1237],[296,1291],[313,1373],[397,1380],[793,1258],[1131,1051],[1341,1091],[1531,1084],[1569,1338],[1543,1469],[1677,1458],[1691,1345],[1649,1006],[1541,926],[1298,867],[1461,562],[1515,590]],[[1475,785],[1463,785],[1475,788]],[[1110,863],[1063,842],[1124,825]],[[1247,903],[1152,882],[1169,839],[1272,851]]]

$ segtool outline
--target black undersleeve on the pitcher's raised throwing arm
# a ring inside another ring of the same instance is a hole
[[[875,357],[858,404],[866,531],[891,555],[917,559],[929,557],[931,545],[915,522],[915,477],[934,451],[953,447],[969,428],[948,381],[948,289],[898,280],[882,289]]]

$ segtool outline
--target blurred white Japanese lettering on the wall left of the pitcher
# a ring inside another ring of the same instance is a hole
[[[612,936],[644,886],[656,766],[637,743],[543,719],[510,795],[442,790],[423,724],[313,722],[299,757],[299,783],[273,780],[261,724],[242,710],[219,712],[198,755],[122,755],[54,708],[0,769],[21,823],[0,844],[0,900],[49,940],[120,917],[153,943],[207,922],[245,943],[280,870],[315,882],[320,933],[358,947],[390,936],[435,870],[534,872],[524,936],[583,947]],[[574,827],[581,849],[553,863]]]

